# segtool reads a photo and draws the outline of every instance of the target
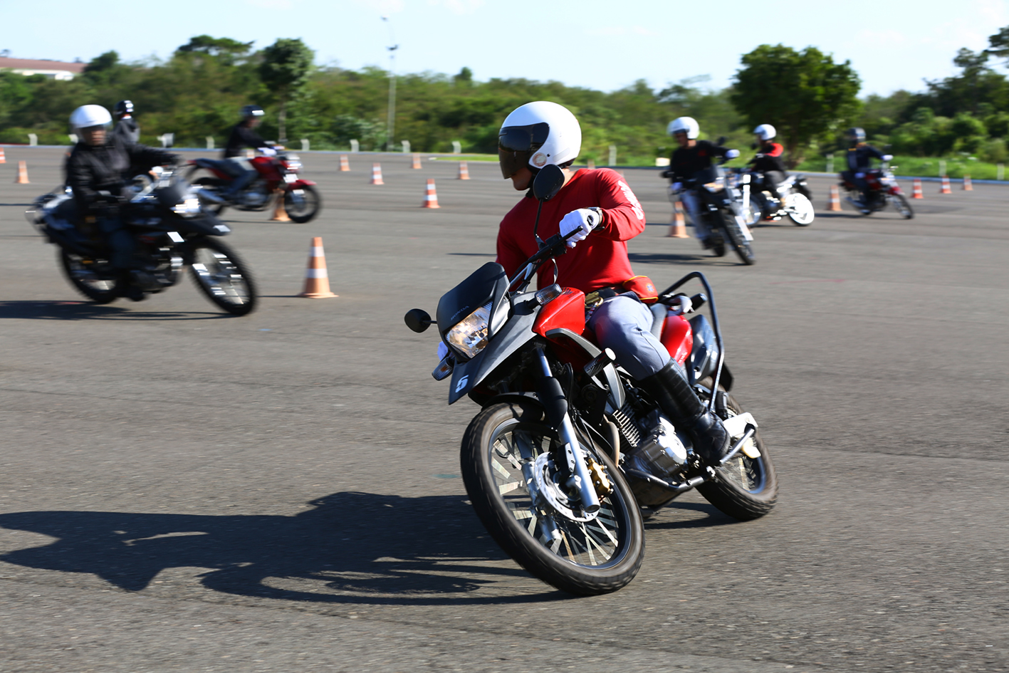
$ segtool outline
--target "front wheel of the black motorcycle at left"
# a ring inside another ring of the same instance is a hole
[[[233,316],[252,312],[255,283],[237,253],[223,242],[206,238],[193,252],[193,279],[211,302]]]

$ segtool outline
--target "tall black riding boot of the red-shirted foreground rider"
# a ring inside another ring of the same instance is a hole
[[[659,403],[673,425],[686,431],[701,459],[716,465],[728,452],[728,431],[700,401],[682,371],[676,360],[670,359],[658,372],[638,382]]]

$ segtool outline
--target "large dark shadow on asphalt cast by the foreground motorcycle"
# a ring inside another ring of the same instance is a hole
[[[90,573],[128,591],[147,588],[163,570],[195,567],[207,569],[199,575],[205,587],[256,598],[480,604],[569,597],[547,585],[530,592],[537,580],[511,563],[502,567],[508,556],[463,497],[344,491],[293,517],[3,514],[0,527],[55,540],[0,561]],[[480,588],[490,590],[473,595]]]

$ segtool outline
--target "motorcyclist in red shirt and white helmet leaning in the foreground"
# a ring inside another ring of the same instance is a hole
[[[539,273],[539,287],[556,282],[586,294],[586,327],[598,344],[615,353],[618,364],[655,399],[674,425],[686,431],[700,457],[714,464],[728,448],[728,433],[653,335],[655,317],[642,299],[654,302],[655,287],[650,282],[639,284],[641,297],[627,290],[636,278],[627,241],[645,230],[644,210],[616,172],[572,171],[580,149],[578,120],[556,103],[528,103],[504,119],[498,133],[501,175],[527,194],[501,220],[497,262],[514,277],[537,252],[533,226],[539,202],[530,188],[543,166],[560,166],[564,186],[543,204],[538,233],[544,240],[557,233],[578,233],[568,240],[573,249],[557,257],[556,281],[553,264],[546,264]]]

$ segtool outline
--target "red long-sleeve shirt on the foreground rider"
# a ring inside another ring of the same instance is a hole
[[[533,224],[539,202],[523,199],[501,220],[497,230],[497,263],[513,277],[537,252]],[[627,182],[615,171],[582,169],[550,201],[540,215],[540,238],[559,232],[565,215],[579,208],[601,208],[602,222],[583,241],[557,257],[557,283],[584,293],[619,286],[634,275],[628,240],[645,230],[645,211]],[[540,267],[538,287],[553,283],[554,265]]]

